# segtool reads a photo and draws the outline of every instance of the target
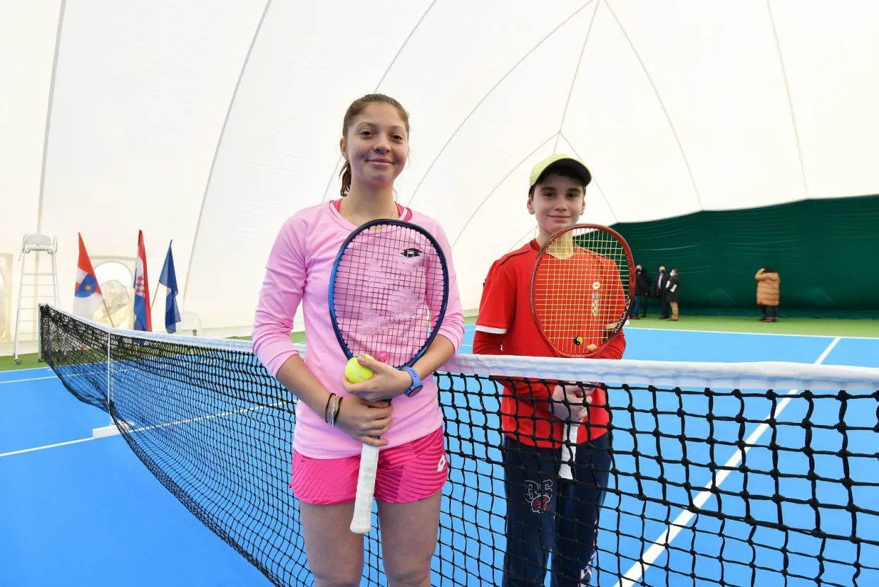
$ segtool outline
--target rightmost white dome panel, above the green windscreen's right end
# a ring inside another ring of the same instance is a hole
[[[770,5],[809,197],[879,193],[879,3]]]

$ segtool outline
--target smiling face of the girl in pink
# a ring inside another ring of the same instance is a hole
[[[374,102],[354,118],[340,147],[351,164],[352,185],[393,183],[409,156],[406,123],[396,107]]]

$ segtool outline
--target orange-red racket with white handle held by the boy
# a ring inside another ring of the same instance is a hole
[[[534,262],[531,312],[559,356],[599,358],[620,334],[634,293],[635,264],[619,232],[575,224],[550,236]],[[580,422],[567,422],[559,475],[572,479]]]

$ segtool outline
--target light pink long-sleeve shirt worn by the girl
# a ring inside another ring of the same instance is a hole
[[[277,376],[287,359],[299,354],[290,341],[290,332],[301,302],[308,348],[305,364],[327,390],[345,397],[349,394],[342,387],[342,378],[347,359],[332,328],[328,291],[333,261],[345,238],[357,227],[338,213],[338,202],[302,209],[281,227],[265,267],[253,327],[253,352],[272,376]],[[397,209],[400,220],[430,232],[446,255],[449,294],[438,334],[451,341],[457,351],[464,337],[464,316],[446,233],[428,216],[399,204]],[[383,435],[388,446],[408,443],[442,425],[437,385],[433,378],[425,378],[424,385],[417,395],[393,401],[393,422]],[[345,410],[344,402],[341,409]],[[316,414],[304,401],[297,401],[293,446],[312,459],[341,459],[359,455],[363,444],[324,422],[323,412]]]

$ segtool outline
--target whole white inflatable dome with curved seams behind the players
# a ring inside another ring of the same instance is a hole
[[[173,239],[181,311],[247,332],[276,232],[338,197],[345,108],[410,113],[399,201],[444,225],[464,307],[533,235],[531,165],[582,158],[587,218],[879,193],[873,0],[0,0],[0,269],[25,232],[94,260]],[[5,259],[5,260],[4,260]],[[152,292],[152,291],[151,291]],[[162,329],[164,291],[154,300]],[[219,331],[217,331],[219,332]]]

